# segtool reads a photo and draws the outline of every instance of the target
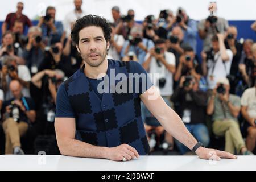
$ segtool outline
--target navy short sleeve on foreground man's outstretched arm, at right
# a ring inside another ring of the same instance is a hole
[[[151,88],[152,79],[146,70],[137,61],[129,61],[130,73],[133,73],[134,92],[142,94]],[[137,81],[139,80],[139,81]]]

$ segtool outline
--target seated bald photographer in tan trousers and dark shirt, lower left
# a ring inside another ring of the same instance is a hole
[[[5,154],[24,154],[21,149],[20,137],[26,134],[28,123],[35,122],[35,106],[31,98],[23,96],[22,85],[18,80],[10,82],[10,90],[13,93],[13,98],[3,104]]]

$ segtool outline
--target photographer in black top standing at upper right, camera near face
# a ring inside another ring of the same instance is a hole
[[[229,80],[230,82],[230,93],[236,94],[236,85],[238,84],[238,65],[242,55],[242,44],[237,41],[237,28],[234,26],[228,27],[225,35],[225,46],[226,49],[230,49],[233,53],[233,60],[230,68],[230,76],[232,79]]]

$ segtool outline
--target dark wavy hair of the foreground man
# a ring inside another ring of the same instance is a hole
[[[80,19],[76,20],[76,23],[73,25],[71,30],[71,39],[75,44],[79,44],[79,32],[82,28],[96,26],[101,27],[104,33],[104,38],[106,42],[108,42],[111,38],[112,29],[108,23],[108,21],[97,15],[86,15]]]

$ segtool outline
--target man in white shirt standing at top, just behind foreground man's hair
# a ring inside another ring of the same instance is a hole
[[[71,33],[71,27],[76,22],[77,19],[82,18],[87,13],[81,9],[82,0],[74,0],[75,9],[70,11],[64,18],[64,31],[66,37]]]

